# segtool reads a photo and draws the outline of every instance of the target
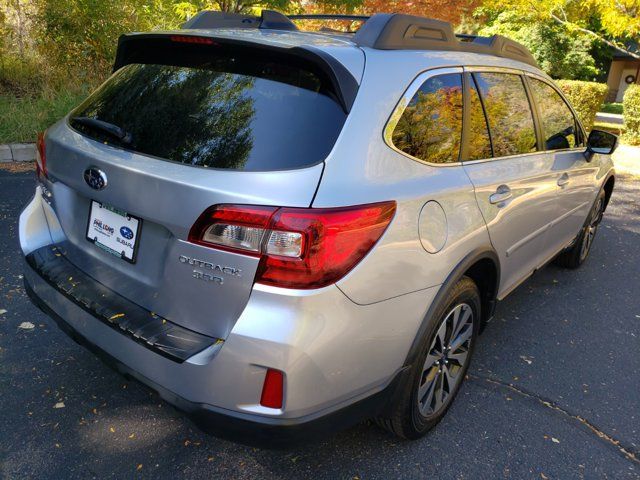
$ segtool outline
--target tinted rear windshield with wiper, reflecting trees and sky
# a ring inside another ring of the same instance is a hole
[[[329,154],[346,113],[319,74],[258,58],[118,70],[70,117],[102,143],[208,168],[286,170]]]

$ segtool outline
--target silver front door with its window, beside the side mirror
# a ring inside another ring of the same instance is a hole
[[[595,199],[598,167],[584,157],[585,134],[562,95],[547,81],[528,76],[544,149],[557,174],[558,214],[549,229],[549,247],[558,251],[582,228]]]

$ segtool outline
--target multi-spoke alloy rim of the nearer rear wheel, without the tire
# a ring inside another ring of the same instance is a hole
[[[418,386],[418,407],[425,417],[438,414],[455,393],[469,361],[473,322],[473,310],[461,303],[438,326]]]

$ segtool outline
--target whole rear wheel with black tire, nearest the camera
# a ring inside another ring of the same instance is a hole
[[[405,439],[420,438],[437,425],[469,368],[480,318],[478,288],[473,280],[462,277],[429,319],[408,380],[399,387],[388,415],[376,419],[378,425]],[[452,335],[454,329],[458,331]],[[447,350],[447,346],[453,348]]]

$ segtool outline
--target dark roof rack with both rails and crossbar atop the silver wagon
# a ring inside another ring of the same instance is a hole
[[[509,58],[538,67],[531,52],[520,43],[502,35],[479,37],[456,35],[449,22],[433,18],[399,13],[364,15],[291,15],[273,10],[263,10],[258,17],[236,13],[203,11],[182,28],[260,28],[293,30],[298,27],[292,20],[352,20],[364,22],[353,36],[353,42],[361,47],[378,50],[447,50],[473,52]]]

